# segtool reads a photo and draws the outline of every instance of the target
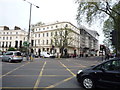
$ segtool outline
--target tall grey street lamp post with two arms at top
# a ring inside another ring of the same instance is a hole
[[[26,0],[24,0],[26,1]],[[27,46],[27,60],[28,60],[28,57],[29,57],[29,45],[30,45],[30,25],[31,25],[31,12],[32,12],[32,5],[35,6],[36,8],[39,8],[39,6],[36,6],[35,4],[31,3],[31,2],[28,2],[26,1],[27,3],[30,4],[30,16],[29,16],[29,28],[28,28],[28,36],[27,36],[27,43],[28,43],[28,46]]]

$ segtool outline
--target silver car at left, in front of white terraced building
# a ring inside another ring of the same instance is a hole
[[[23,60],[23,56],[20,51],[8,51],[5,54],[3,54],[2,61],[19,61],[21,62]]]

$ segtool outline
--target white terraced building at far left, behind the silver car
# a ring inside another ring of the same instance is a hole
[[[23,42],[27,39],[27,32],[15,26],[9,29],[7,26],[0,26],[0,51],[7,51],[13,47],[19,49],[23,46]]]

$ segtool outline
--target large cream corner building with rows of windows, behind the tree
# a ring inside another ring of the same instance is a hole
[[[32,26],[32,31],[31,42],[33,44],[31,47],[36,54],[43,51],[50,52],[53,46],[54,53],[60,53],[62,46],[67,49],[69,54],[74,53],[75,50],[76,53],[79,52],[80,31],[69,22],[56,22],[48,25],[36,24]]]

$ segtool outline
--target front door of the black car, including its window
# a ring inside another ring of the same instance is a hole
[[[100,86],[112,86],[113,81],[115,81],[115,72],[111,68],[113,61],[107,61],[94,68],[94,78],[98,81]]]

